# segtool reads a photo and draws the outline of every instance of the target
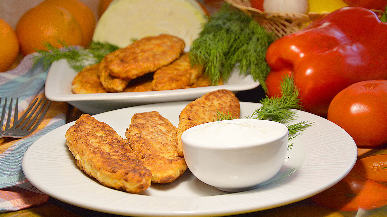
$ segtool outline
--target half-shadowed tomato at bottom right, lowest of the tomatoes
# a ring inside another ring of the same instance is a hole
[[[339,211],[375,209],[387,205],[387,187],[376,181],[344,178],[311,199],[319,206]]]

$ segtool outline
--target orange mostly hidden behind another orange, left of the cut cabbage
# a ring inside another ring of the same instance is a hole
[[[92,10],[77,0],[45,0],[41,4],[58,5],[67,9],[77,20],[82,30],[82,46],[86,47],[93,37],[96,19]]]

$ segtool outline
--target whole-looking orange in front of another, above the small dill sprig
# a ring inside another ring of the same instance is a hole
[[[38,5],[24,13],[16,24],[16,35],[24,55],[36,49],[47,50],[45,42],[54,47],[82,43],[82,31],[74,16],[63,7],[50,4]]]

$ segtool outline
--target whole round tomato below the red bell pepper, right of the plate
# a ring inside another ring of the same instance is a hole
[[[330,102],[328,120],[351,135],[357,146],[387,142],[387,80],[360,81],[339,92]]]

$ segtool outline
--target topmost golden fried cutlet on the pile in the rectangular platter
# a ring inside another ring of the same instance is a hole
[[[150,36],[105,56],[111,76],[132,80],[180,57],[184,41],[170,35]]]

